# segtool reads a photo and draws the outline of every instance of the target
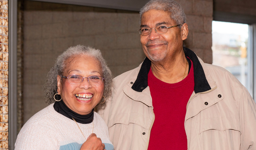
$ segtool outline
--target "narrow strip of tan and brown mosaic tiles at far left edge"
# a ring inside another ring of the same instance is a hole
[[[8,149],[8,1],[0,0],[0,150]]]

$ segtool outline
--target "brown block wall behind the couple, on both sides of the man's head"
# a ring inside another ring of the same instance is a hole
[[[187,14],[187,47],[212,63],[212,0],[178,0]],[[25,1],[24,123],[46,107],[44,81],[61,52],[77,44],[100,49],[114,76],[145,58],[139,12]]]

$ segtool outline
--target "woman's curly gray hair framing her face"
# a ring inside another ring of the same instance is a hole
[[[76,45],[74,47],[69,47],[67,50],[65,50],[60,56],[58,56],[54,66],[51,68],[51,71],[48,72],[46,81],[44,84],[44,92],[45,94],[45,102],[47,104],[51,104],[55,102],[53,96],[54,94],[58,93],[57,92],[57,76],[58,75],[63,75],[63,72],[65,71],[66,68],[66,61],[69,58],[73,58],[75,56],[80,56],[80,55],[88,55],[93,58],[95,58],[97,61],[99,61],[101,68],[102,68],[102,73],[103,73],[103,78],[104,80],[104,93],[103,96],[106,97],[106,99],[111,95],[111,88],[113,86],[113,75],[108,68],[106,60],[103,58],[101,55],[101,52],[99,49],[94,49],[92,47],[87,47],[83,45]],[[86,59],[86,57],[84,58]],[[104,98],[100,100],[100,103],[104,102]],[[104,107],[106,104],[105,102],[103,104],[98,104],[98,108],[101,109]]]

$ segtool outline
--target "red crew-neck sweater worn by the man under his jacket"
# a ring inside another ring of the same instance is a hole
[[[187,150],[184,122],[186,106],[194,91],[193,63],[191,62],[188,76],[174,84],[157,79],[150,68],[148,86],[156,116],[148,150]]]

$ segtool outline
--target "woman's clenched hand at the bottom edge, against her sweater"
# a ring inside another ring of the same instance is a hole
[[[101,142],[101,139],[92,133],[81,146],[80,150],[103,150],[104,148],[105,145]]]

